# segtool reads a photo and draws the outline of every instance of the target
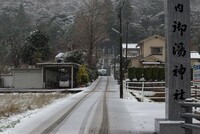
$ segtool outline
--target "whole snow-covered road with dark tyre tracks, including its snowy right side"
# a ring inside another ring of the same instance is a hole
[[[119,99],[119,85],[112,77],[102,77],[95,87],[97,83],[21,119],[3,133],[38,134],[65,117],[49,129],[52,134],[152,134],[154,119],[164,118],[164,103]]]

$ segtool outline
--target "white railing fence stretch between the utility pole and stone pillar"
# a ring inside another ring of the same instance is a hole
[[[140,98],[140,101],[144,101],[144,98],[165,99],[165,82],[124,81],[123,85],[125,90],[135,94],[137,98]]]

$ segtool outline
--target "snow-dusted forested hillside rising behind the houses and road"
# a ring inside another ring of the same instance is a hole
[[[164,36],[163,0],[123,1],[1,0],[1,64],[23,64],[22,53],[27,46],[27,38],[31,32],[40,30],[48,36],[52,55],[61,51],[82,50],[91,60],[88,64],[93,65],[95,61],[91,57],[98,47],[107,45],[113,48],[119,43],[119,35],[112,28],[119,30],[120,9],[124,42],[137,43],[154,34]],[[200,44],[199,14],[200,1],[192,0],[191,44],[196,47]]]

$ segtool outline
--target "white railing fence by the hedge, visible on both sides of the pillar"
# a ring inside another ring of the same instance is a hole
[[[191,84],[191,97],[200,100],[200,83]],[[140,101],[144,98],[159,101],[165,100],[165,82],[124,81],[124,90],[135,95]],[[126,96],[125,96],[126,98]]]

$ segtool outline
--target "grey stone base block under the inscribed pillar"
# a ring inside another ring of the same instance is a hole
[[[169,121],[166,119],[155,119],[155,134],[185,134],[185,129],[180,126],[183,121]],[[199,134],[193,130],[193,134]]]

